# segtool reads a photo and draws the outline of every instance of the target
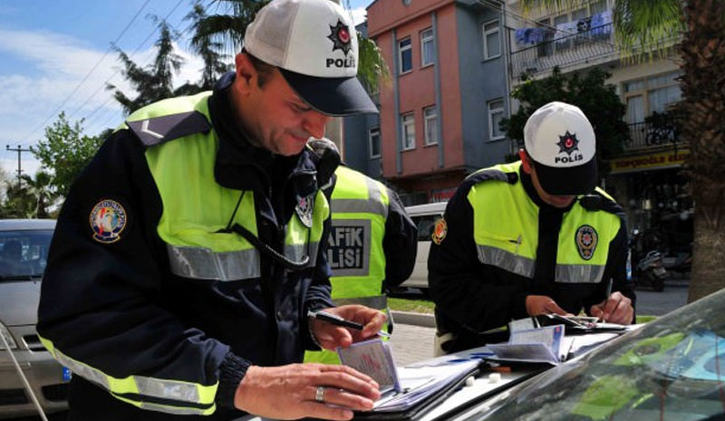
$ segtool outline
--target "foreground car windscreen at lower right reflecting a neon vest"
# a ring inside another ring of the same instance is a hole
[[[725,420],[723,309],[725,289],[445,419]]]

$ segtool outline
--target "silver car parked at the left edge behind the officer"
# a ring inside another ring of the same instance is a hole
[[[43,348],[35,332],[40,283],[55,221],[0,220],[0,334],[23,368],[46,413],[68,407],[70,372]],[[0,340],[0,418],[37,415],[9,351]]]

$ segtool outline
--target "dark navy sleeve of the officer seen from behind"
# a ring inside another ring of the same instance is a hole
[[[385,285],[398,286],[407,280],[415,266],[418,250],[418,227],[405,212],[401,199],[388,189],[389,210],[385,220],[382,250],[385,253]]]

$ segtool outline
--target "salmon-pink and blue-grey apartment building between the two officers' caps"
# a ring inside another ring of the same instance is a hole
[[[377,117],[345,119],[348,165],[382,177],[406,205],[446,200],[511,145],[501,5],[472,0],[376,0],[367,33],[391,69]]]

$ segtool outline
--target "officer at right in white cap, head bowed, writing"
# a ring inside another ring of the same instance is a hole
[[[589,120],[548,103],[524,142],[520,161],[467,177],[435,227],[428,268],[443,352],[501,340],[488,331],[544,313],[634,321],[623,211],[596,187]]]

